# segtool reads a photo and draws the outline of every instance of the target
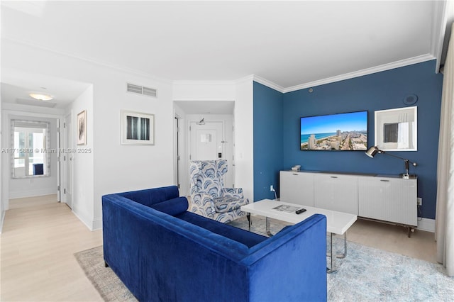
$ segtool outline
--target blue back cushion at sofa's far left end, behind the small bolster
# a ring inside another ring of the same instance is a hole
[[[163,186],[161,188],[128,191],[118,193],[118,195],[141,203],[144,206],[151,206],[155,203],[177,198],[179,196],[179,191],[177,186]]]

